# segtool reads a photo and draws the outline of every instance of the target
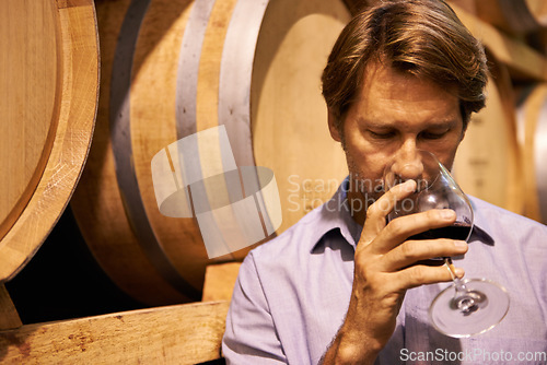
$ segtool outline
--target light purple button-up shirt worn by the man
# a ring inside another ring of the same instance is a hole
[[[476,228],[456,266],[466,278],[503,285],[511,301],[508,315],[486,333],[449,338],[428,319],[432,299],[449,284],[411,289],[376,364],[547,364],[547,226],[472,202]],[[319,362],[348,309],[362,228],[346,204],[339,188],[245,258],[222,344],[229,364]]]

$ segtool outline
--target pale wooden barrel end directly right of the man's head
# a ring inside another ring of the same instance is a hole
[[[453,173],[462,189],[515,213],[523,212],[523,179],[516,109],[509,71],[487,52],[491,76],[487,103],[472,116]]]

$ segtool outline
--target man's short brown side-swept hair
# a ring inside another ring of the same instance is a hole
[[[442,0],[384,0],[344,28],[322,76],[323,96],[339,129],[371,62],[455,86],[464,130],[472,113],[485,106],[484,48]]]

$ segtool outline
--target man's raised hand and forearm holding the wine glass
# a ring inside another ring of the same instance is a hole
[[[454,239],[407,240],[420,232],[453,224],[456,215],[452,210],[431,210],[386,224],[386,215],[395,203],[408,197],[415,188],[412,180],[400,184],[366,211],[356,249],[348,313],[324,356],[324,364],[372,364],[395,330],[406,291],[452,280],[444,266],[417,262],[467,251],[465,242]],[[456,274],[463,276],[463,270],[456,269]]]

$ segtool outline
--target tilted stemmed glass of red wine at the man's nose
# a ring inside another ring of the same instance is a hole
[[[454,181],[446,167],[430,152],[419,150],[410,162],[395,158],[384,173],[384,189],[414,179],[416,191],[398,201],[387,220],[423,212],[430,209],[452,209],[456,212],[453,225],[422,232],[408,239],[453,238],[467,240],[473,231],[473,208],[468,198]],[[451,258],[444,260],[453,284],[433,299],[429,318],[440,332],[466,338],[488,331],[498,325],[509,310],[509,295],[501,285],[488,279],[461,280],[455,275]]]

